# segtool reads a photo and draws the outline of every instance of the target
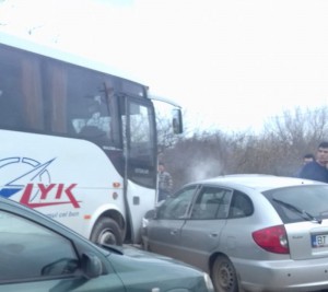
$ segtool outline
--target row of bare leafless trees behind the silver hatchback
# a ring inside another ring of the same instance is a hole
[[[328,107],[285,110],[250,131],[196,132],[163,151],[175,188],[218,175],[257,173],[294,176],[305,153],[328,140]],[[173,140],[172,140],[173,141]]]

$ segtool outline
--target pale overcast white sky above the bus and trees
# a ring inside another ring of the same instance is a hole
[[[223,131],[327,105],[327,15],[326,0],[0,0],[0,30],[98,58]]]

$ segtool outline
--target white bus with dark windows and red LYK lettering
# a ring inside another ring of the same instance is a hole
[[[0,141],[0,196],[93,242],[140,242],[142,217],[156,203],[148,86],[103,63],[1,33]]]

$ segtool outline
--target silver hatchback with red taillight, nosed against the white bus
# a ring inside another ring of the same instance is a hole
[[[144,219],[143,246],[211,275],[218,292],[328,289],[328,185],[232,175],[188,184]]]

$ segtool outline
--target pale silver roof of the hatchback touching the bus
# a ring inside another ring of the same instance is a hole
[[[297,178],[274,176],[265,174],[235,174],[218,176],[209,179],[196,182],[196,184],[224,185],[226,187],[238,188],[247,187],[258,191],[265,191],[274,188],[300,186],[300,185],[326,185],[325,183]]]

